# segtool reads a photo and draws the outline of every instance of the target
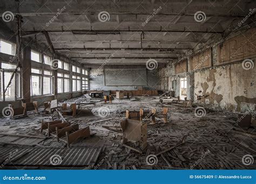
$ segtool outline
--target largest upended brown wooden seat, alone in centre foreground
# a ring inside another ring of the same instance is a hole
[[[131,150],[142,153],[147,147],[147,124],[134,119],[125,119],[121,122],[121,128],[123,132],[123,145]],[[127,145],[128,140],[137,141],[140,144],[140,148]]]

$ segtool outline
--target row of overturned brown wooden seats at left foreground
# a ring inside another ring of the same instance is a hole
[[[79,130],[78,124],[70,125],[70,122],[62,122],[61,120],[50,122],[44,122],[42,120],[41,132],[43,130],[46,130],[48,137],[52,135],[57,138],[57,141],[64,141],[68,147],[79,138],[90,137],[89,126]],[[63,136],[66,137],[62,138]]]

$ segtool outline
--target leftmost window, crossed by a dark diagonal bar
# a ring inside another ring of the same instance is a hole
[[[16,65],[11,65],[8,63],[4,63],[2,62],[2,72],[0,72],[1,76],[0,76],[0,89],[1,89],[1,94],[0,94],[0,100],[2,101],[13,101],[16,100],[17,98],[20,97],[21,94],[21,90],[20,90],[20,73],[19,73],[19,69],[18,72],[14,75],[14,77],[11,80],[11,84],[8,87],[8,89],[6,90],[5,94],[3,93],[4,90],[6,89],[6,87],[8,86],[8,83],[11,79],[12,73],[14,72]],[[4,83],[2,84],[2,81],[4,81]]]

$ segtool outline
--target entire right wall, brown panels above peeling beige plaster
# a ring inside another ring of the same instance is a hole
[[[179,96],[181,77],[187,77],[188,99],[216,107],[246,111],[256,104],[256,29],[231,36],[219,44],[187,56],[187,70],[180,69],[183,60],[169,63],[161,70],[161,89],[176,82]],[[247,64],[246,64],[246,62]],[[247,65],[247,66],[246,66]],[[181,73],[180,72],[184,72]],[[199,96],[199,99],[198,99]],[[201,97],[201,99],[200,99]]]

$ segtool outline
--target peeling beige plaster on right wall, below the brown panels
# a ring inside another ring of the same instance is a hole
[[[198,102],[241,111],[245,103],[256,103],[255,77],[256,68],[245,70],[241,63],[196,72],[194,96],[208,95]]]

